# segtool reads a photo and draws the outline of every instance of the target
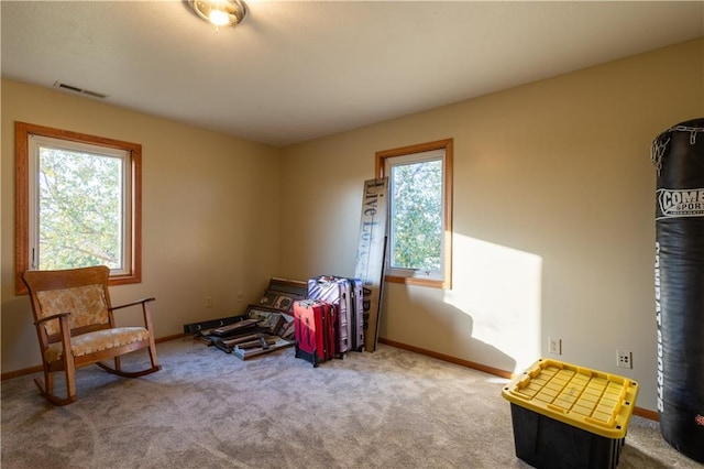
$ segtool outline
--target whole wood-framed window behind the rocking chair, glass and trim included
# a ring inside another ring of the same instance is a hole
[[[16,124],[16,258],[24,270],[110,268],[141,281],[141,146]]]

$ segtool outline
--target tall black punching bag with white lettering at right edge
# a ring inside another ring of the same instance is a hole
[[[704,118],[662,132],[651,157],[660,430],[704,462]]]

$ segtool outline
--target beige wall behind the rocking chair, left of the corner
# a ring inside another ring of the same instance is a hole
[[[14,121],[142,144],[143,281],[111,295],[156,296],[157,337],[258,301],[278,262],[277,149],[15,81],[2,80],[1,92],[3,372],[40,363],[29,302],[14,295]]]

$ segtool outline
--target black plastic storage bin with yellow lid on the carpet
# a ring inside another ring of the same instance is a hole
[[[502,395],[510,402],[518,458],[536,468],[616,468],[638,383],[541,359]]]

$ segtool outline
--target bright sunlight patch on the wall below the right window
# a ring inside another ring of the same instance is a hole
[[[458,233],[453,249],[444,302],[472,317],[473,338],[515,361],[509,371],[525,370],[541,353],[542,258]]]

